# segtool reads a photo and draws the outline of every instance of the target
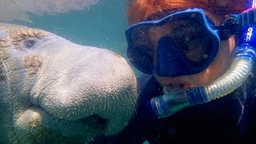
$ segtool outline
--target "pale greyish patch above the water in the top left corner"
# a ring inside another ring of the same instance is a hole
[[[27,13],[33,14],[58,14],[70,10],[82,10],[88,6],[95,5],[100,0],[1,0],[0,22],[19,19],[30,21]]]

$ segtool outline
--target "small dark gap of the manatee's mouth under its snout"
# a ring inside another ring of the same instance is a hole
[[[104,130],[108,120],[98,116],[98,114],[90,115],[89,117],[79,119],[80,122],[85,122],[95,130]]]

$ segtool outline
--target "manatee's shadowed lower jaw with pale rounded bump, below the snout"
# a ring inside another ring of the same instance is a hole
[[[66,120],[54,117],[38,106],[30,106],[18,115],[14,131],[17,138],[24,141],[22,143],[84,143],[104,135],[110,121],[98,114]]]

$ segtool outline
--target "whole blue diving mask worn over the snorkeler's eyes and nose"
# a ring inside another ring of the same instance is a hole
[[[215,27],[201,9],[166,15],[160,20],[139,22],[126,30],[130,62],[145,74],[156,73],[161,77],[197,74],[205,70],[214,61],[220,40],[230,36],[226,27]],[[158,30],[164,35],[154,42],[150,34]]]

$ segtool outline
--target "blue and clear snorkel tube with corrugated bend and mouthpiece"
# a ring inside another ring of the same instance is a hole
[[[246,81],[256,58],[256,9],[254,9],[256,5],[253,0],[247,3],[250,4],[246,7],[249,10],[234,15],[241,28],[229,70],[206,86],[198,86],[191,90],[178,90],[151,98],[146,105],[154,117],[165,118],[188,106],[222,98]]]

